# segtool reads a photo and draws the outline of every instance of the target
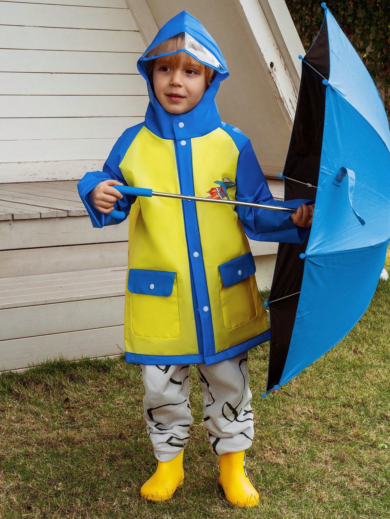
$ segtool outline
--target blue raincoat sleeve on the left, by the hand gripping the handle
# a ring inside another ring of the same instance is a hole
[[[113,179],[127,186],[122,172],[119,169],[119,164],[122,162],[123,156],[128,148],[126,143],[126,141],[128,141],[128,139],[126,139],[126,133],[127,132],[125,131],[114,144],[109,157],[104,162],[102,171],[89,171],[77,184],[78,194],[83,200],[91,218],[92,227],[104,227],[104,225],[115,225],[119,223],[117,220],[112,218],[110,214],[103,214],[95,209],[89,199],[89,194],[92,189],[103,180]],[[123,211],[127,216],[130,212],[133,201],[135,201],[135,197],[131,195],[123,195],[123,198],[119,198],[117,202],[114,203],[114,209],[117,211]]]

